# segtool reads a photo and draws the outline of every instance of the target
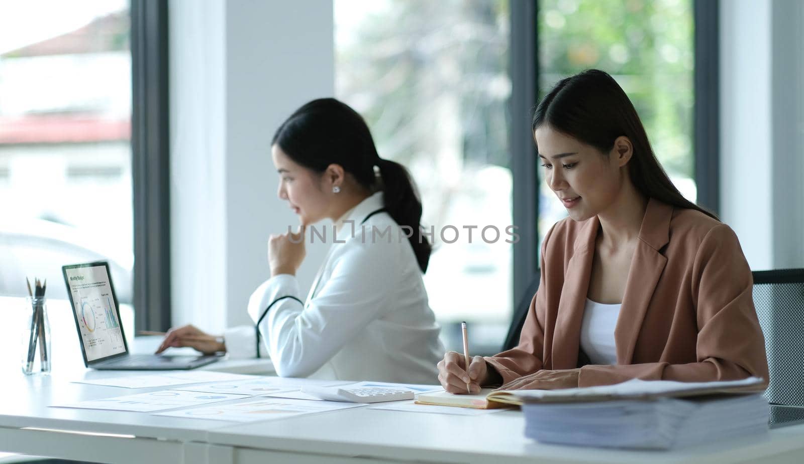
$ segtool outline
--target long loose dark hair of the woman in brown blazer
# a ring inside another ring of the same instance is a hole
[[[602,153],[613,149],[618,136],[628,137],[634,147],[628,171],[642,194],[717,219],[716,214],[688,201],[675,188],[650,147],[634,104],[605,71],[589,69],[556,83],[533,115],[534,131],[544,124]]]

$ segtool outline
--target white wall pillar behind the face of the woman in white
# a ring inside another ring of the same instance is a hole
[[[297,218],[277,198],[273,132],[334,94],[332,0],[170,0],[170,207],[174,325],[247,324],[269,277],[269,234]],[[298,278],[310,287],[322,246]]]

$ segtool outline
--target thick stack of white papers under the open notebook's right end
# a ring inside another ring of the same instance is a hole
[[[605,387],[606,395],[598,394],[603,387],[595,387],[597,393],[583,400],[585,395],[575,392],[565,401],[556,396],[559,391],[537,402],[532,402],[538,396],[534,394],[523,404],[525,436],[564,445],[659,450],[756,436],[768,430],[769,406],[761,393],[693,395],[739,391],[751,382],[690,388],[693,384],[630,381]]]

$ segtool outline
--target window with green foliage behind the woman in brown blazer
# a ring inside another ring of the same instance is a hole
[[[691,0],[541,0],[539,98],[558,80],[597,67],[637,108],[656,157],[695,202],[694,61]],[[539,171],[539,243],[564,207]]]

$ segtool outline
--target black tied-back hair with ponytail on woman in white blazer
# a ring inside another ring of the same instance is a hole
[[[408,238],[422,272],[427,271],[432,246],[422,234],[421,201],[403,165],[379,157],[363,116],[334,98],[313,100],[293,112],[277,128],[271,144],[278,144],[298,165],[324,173],[341,165],[369,192],[384,190],[385,209],[400,226],[410,227]],[[374,167],[382,177],[378,185]]]

